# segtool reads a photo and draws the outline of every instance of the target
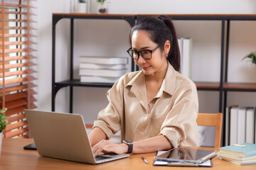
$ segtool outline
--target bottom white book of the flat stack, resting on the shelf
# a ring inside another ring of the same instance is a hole
[[[92,77],[92,76],[81,76],[81,82],[87,83],[115,83],[119,77]]]

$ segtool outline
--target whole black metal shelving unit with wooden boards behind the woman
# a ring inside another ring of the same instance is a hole
[[[230,21],[256,21],[256,15],[227,15],[227,14],[164,14],[172,20],[180,21],[220,21],[221,22],[221,50],[220,50],[220,81],[216,82],[196,82],[198,90],[201,91],[218,91],[219,92],[219,109],[218,112],[224,113],[223,127],[225,127],[225,108],[227,104],[228,91],[251,91],[256,92],[256,84],[235,84],[230,86],[228,83],[228,51],[230,40]],[[110,88],[112,84],[95,84],[82,83],[78,79],[73,79],[73,32],[74,19],[110,19],[124,20],[132,27],[141,18],[146,16],[159,16],[144,14],[144,15],[118,15],[118,14],[85,14],[85,13],[53,13],[53,69],[52,69],[52,111],[55,111],[55,96],[59,89],[70,87],[70,113],[73,111],[73,86],[93,86]],[[60,82],[55,82],[55,26],[63,18],[70,19],[70,79]],[[132,71],[134,71],[134,61],[132,60]],[[228,85],[227,85],[228,84]],[[225,140],[225,130],[223,130],[223,142]]]

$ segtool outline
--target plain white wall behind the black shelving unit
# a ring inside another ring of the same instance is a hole
[[[95,1],[92,1],[95,6]],[[253,0],[110,0],[110,13],[256,13]],[[52,13],[70,11],[68,0],[39,1],[39,52],[38,52],[38,109],[51,109],[51,18]],[[91,11],[95,11],[92,8]],[[178,36],[193,38],[194,81],[219,81],[220,77],[220,22],[174,21]],[[58,24],[56,42],[56,80],[68,77],[69,21]],[[256,82],[255,67],[241,61],[242,57],[255,51],[255,22],[231,23],[229,81]],[[125,21],[75,20],[75,63],[79,55],[127,56],[129,25]],[[74,64],[78,67],[78,64]],[[242,74],[241,74],[242,73]],[[78,77],[78,69],[75,69]],[[75,87],[73,112],[85,115],[85,123],[92,123],[97,112],[107,105],[107,88]],[[198,91],[200,111],[218,112],[218,93]],[[239,96],[242,96],[240,98]],[[56,98],[56,111],[68,112],[68,90],[61,89]],[[255,93],[229,93],[228,105],[255,105]],[[90,113],[87,113],[90,111]]]

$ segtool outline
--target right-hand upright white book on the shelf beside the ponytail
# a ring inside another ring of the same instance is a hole
[[[191,56],[192,56],[192,39],[183,38],[182,41],[182,70],[181,74],[191,78]]]

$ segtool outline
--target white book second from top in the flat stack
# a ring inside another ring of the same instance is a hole
[[[127,69],[126,64],[94,64],[94,63],[80,63],[80,69]]]

